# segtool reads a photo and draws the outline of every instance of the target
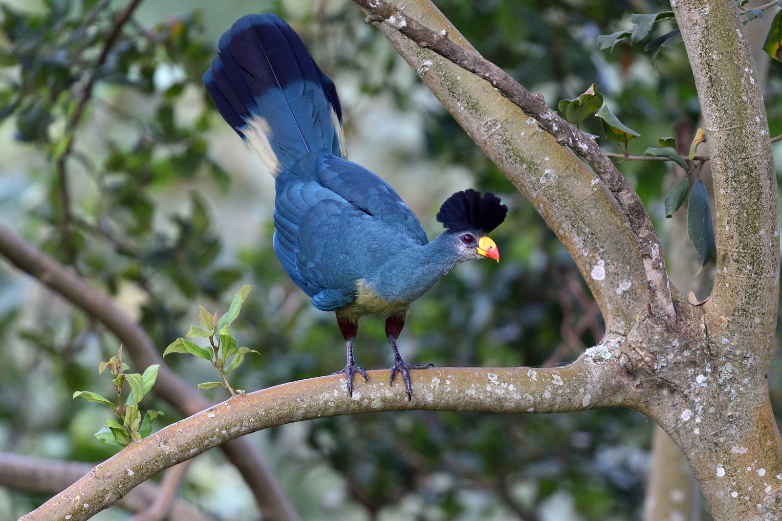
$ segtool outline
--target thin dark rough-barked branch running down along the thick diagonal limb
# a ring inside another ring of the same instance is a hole
[[[439,33],[432,31],[382,0],[353,0],[353,2],[368,13],[370,20],[393,27],[419,47],[431,49],[457,66],[488,81],[508,100],[534,117],[540,127],[551,134],[559,145],[569,147],[586,161],[597,174],[597,178],[612,192],[635,235],[638,250],[644,259],[652,313],[669,322],[675,321],[676,312],[673,309],[668,274],[665,271],[665,260],[662,257],[657,233],[633,187],[600,146],[597,146],[593,138],[587,137],[559,117],[546,106],[542,95],[533,95],[500,67],[448,38],[447,31],[443,30]]]

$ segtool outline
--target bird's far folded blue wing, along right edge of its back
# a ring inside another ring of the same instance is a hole
[[[378,175],[360,164],[326,151],[318,154],[316,164],[318,181],[325,188],[415,243],[429,243],[421,221],[418,221],[413,210]]]

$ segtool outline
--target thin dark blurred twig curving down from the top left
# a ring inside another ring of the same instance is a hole
[[[98,56],[98,61],[95,62],[95,66],[90,74],[87,84],[84,86],[84,90],[81,92],[81,98],[79,104],[76,106],[73,115],[68,122],[68,129],[70,134],[68,135],[65,149],[63,153],[57,158],[57,173],[59,175],[59,198],[62,208],[60,209],[60,233],[63,235],[63,250],[65,258],[68,264],[74,264],[74,250],[70,243],[70,188],[68,186],[68,169],[67,161],[74,149],[74,140],[76,138],[76,129],[81,122],[81,118],[84,116],[84,109],[87,107],[87,103],[92,97],[92,88],[95,86],[95,81],[99,76],[99,70],[106,63],[106,58],[109,56],[109,52],[114,43],[119,38],[120,31],[127,20],[130,20],[133,11],[138,7],[142,0],[131,0],[122,10],[117,20],[114,20],[112,27],[109,29],[109,34],[106,36],[106,41],[103,44],[103,49]]]

